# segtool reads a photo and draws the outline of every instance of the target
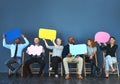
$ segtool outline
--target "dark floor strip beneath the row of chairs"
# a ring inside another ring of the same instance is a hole
[[[38,77],[8,77],[7,74],[0,74],[0,84],[120,84],[120,78],[115,75],[111,75],[110,78],[91,78],[77,79],[76,76],[71,76],[71,79],[65,80],[64,77],[54,78],[44,76]]]

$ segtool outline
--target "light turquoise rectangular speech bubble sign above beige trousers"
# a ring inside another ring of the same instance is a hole
[[[86,46],[86,44],[70,45],[70,53],[73,56],[86,54],[87,53],[87,46]]]

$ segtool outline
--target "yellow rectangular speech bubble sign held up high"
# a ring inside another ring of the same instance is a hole
[[[44,28],[39,29],[39,38],[54,40],[56,39],[56,34],[57,34],[56,30]]]

